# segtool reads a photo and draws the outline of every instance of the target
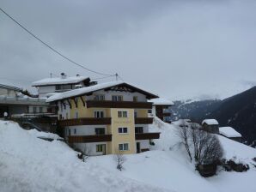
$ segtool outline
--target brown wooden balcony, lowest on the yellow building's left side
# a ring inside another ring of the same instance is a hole
[[[80,135],[69,136],[69,143],[86,143],[86,142],[107,142],[112,141],[112,135]]]

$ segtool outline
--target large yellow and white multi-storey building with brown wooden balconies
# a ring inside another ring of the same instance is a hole
[[[59,93],[47,99],[58,105],[66,141],[90,155],[141,153],[159,133],[149,133],[148,117],[157,95],[112,81]]]

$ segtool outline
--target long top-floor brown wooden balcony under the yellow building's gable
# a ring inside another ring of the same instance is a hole
[[[112,101],[112,100],[88,100],[87,107],[100,108],[130,108],[130,109],[152,109],[150,102],[134,102],[134,101]]]

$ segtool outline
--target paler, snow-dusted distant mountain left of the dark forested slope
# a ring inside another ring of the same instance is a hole
[[[171,107],[172,121],[180,118],[189,118],[193,121],[199,122],[202,117],[210,114],[210,112],[216,110],[216,108],[222,103],[219,99],[207,99],[207,100],[186,100],[174,101],[174,106]]]

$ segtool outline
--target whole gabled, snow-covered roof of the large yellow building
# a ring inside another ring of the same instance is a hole
[[[99,91],[102,89],[115,87],[115,86],[126,86],[126,87],[133,88],[138,93],[143,93],[143,94],[147,95],[149,98],[157,98],[158,97],[157,95],[155,95],[153,93],[149,93],[149,92],[143,91],[142,89],[139,89],[137,87],[131,86],[131,84],[128,84],[124,81],[110,81],[110,82],[96,84],[96,85],[90,86],[90,87],[82,87],[82,88],[70,90],[68,92],[59,93],[59,94],[53,95],[52,97],[46,99],[46,102],[52,102],[52,101],[82,96],[82,95],[85,95],[88,93],[93,93],[95,91]]]

